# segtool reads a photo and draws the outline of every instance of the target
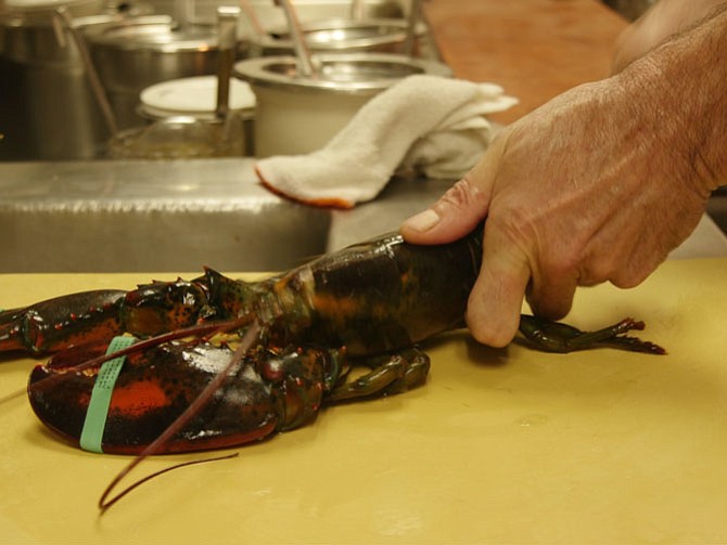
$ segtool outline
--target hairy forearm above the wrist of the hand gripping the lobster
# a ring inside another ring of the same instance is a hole
[[[674,35],[614,77],[635,108],[651,108],[651,130],[674,172],[707,194],[727,182],[727,3]],[[637,96],[641,96],[639,100]]]

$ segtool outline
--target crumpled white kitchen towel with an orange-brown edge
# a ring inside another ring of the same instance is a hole
[[[397,169],[461,177],[493,138],[485,115],[516,102],[494,83],[409,76],[367,102],[321,150],[260,159],[255,170],[294,200],[352,208],[374,198]]]

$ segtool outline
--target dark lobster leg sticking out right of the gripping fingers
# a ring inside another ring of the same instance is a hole
[[[567,353],[597,347],[610,347],[632,352],[664,354],[666,351],[653,342],[625,335],[629,330],[643,329],[643,322],[630,317],[596,332],[582,332],[561,322],[528,316],[520,317],[520,332],[536,348],[546,352]]]

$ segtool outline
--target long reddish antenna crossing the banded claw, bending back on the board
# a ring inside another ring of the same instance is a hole
[[[250,319],[248,319],[250,320]],[[149,481],[150,479],[153,479],[154,477],[157,477],[162,473],[165,473],[167,471],[170,471],[173,469],[177,469],[180,467],[184,466],[190,466],[193,464],[201,464],[205,462],[214,462],[214,460],[219,460],[219,459],[228,459],[237,456],[238,454],[230,454],[226,456],[218,456],[218,457],[213,457],[213,458],[205,458],[201,460],[193,460],[193,462],[187,462],[182,464],[177,464],[175,466],[168,467],[166,469],[162,469],[161,471],[156,471],[155,473],[152,473],[150,476],[143,477],[141,479],[138,479],[137,481],[132,482],[131,484],[127,485],[125,489],[123,489],[120,492],[118,492],[115,495],[112,495],[112,492],[114,489],[120,483],[120,481],[131,472],[131,470],[137,467],[139,464],[141,464],[148,456],[152,456],[153,454],[156,454],[164,444],[171,439],[176,433],[179,432],[180,429],[182,429],[189,420],[194,417],[195,415],[199,414],[199,412],[209,402],[212,397],[215,394],[215,392],[225,384],[227,378],[230,376],[231,372],[240,364],[242,359],[244,358],[245,353],[252,348],[252,346],[259,339],[262,332],[262,327],[259,322],[255,319],[251,326],[247,328],[245,332],[245,335],[243,336],[240,345],[235,349],[234,353],[232,354],[232,358],[230,359],[229,363],[222,368],[217,376],[202,390],[200,395],[184,410],[184,412],[177,417],[175,421],[173,421],[169,427],[164,430],[164,432],[157,437],[152,443],[150,443],[141,453],[139,453],[129,464],[122,469],[116,477],[109,483],[106,489],[104,490],[103,494],[101,494],[101,498],[99,499],[99,509],[101,509],[101,515],[106,512],[109,508],[114,505],[116,502],[118,502],[120,498],[123,498],[125,495],[127,495],[129,492],[131,492],[133,489],[137,486],[143,484],[144,482]],[[110,497],[111,496],[111,497]]]

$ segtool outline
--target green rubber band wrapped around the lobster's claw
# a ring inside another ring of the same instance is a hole
[[[128,348],[136,340],[133,337],[114,337],[109,343],[106,354]],[[99,369],[93,391],[91,391],[91,399],[88,403],[88,410],[86,411],[84,429],[80,432],[80,447],[85,451],[103,453],[101,441],[103,439],[103,430],[106,427],[111,394],[124,366],[124,360],[126,360],[125,355],[114,358],[104,362]]]

